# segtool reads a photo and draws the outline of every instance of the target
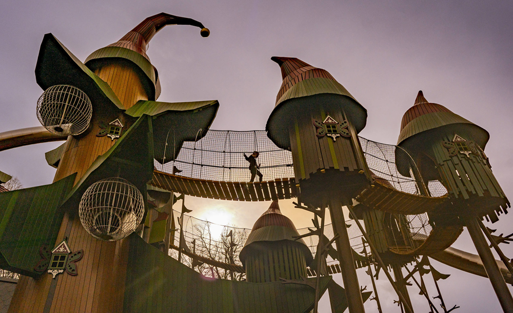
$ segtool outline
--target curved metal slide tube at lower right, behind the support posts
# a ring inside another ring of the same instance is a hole
[[[481,261],[481,258],[478,255],[449,247],[443,251],[429,255],[429,257],[437,260],[440,263],[466,271],[468,273],[482,277],[488,277],[483,266],[483,261]],[[513,284],[513,276],[511,276],[511,273],[509,273],[507,267],[504,265],[504,263],[502,263],[502,261],[496,261],[506,283]]]

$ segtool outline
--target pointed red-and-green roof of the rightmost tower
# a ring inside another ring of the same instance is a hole
[[[403,115],[397,144],[401,145],[406,139],[424,131],[448,125],[456,126],[456,124],[459,124],[457,127],[462,127],[472,132],[473,140],[476,141],[481,149],[484,149],[490,137],[485,129],[451,112],[442,105],[428,102],[421,90],[417,94],[413,106]],[[440,130],[442,131],[442,128]]]

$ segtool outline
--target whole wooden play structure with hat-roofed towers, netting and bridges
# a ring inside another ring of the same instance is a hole
[[[486,130],[420,91],[397,145],[364,139],[363,105],[294,57],[271,58],[283,83],[265,130],[209,130],[218,101],[156,101],[160,74],[146,49],[166,25],[210,33],[161,13],[84,63],[44,36],[35,69],[42,126],[0,133],[0,151],[65,143],[45,155],[57,169],[52,184],[0,185],[0,268],[19,275],[9,312],[317,312],[326,290],[333,312],[365,312],[368,299],[381,312],[381,271],[402,311],[413,312],[409,281],[431,312],[457,309],[445,304],[438,281],[447,276],[429,258],[488,277],[513,312],[513,268],[498,246],[509,236],[482,224],[510,207],[484,152]],[[244,153],[253,151],[261,182],[250,182]],[[270,205],[243,229],[191,217],[188,197]],[[312,214],[311,227],[281,213],[285,199]],[[479,256],[450,247],[463,227]]]

